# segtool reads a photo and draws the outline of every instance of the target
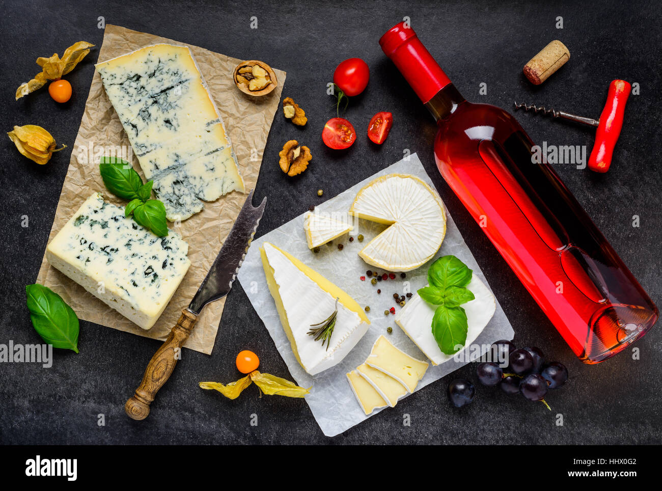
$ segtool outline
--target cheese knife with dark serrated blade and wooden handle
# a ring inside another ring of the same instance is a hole
[[[253,191],[248,194],[207,277],[193,296],[189,306],[181,311],[181,316],[166,341],[154,353],[135,394],[126,401],[124,410],[129,418],[134,420],[147,418],[150,414],[150,404],[156,397],[156,392],[162,388],[175,369],[181,347],[191,334],[200,312],[209,302],[219,300],[230,292],[232,282],[237,277],[239,267],[246,257],[246,251],[258,228],[267,202],[265,197],[260,206],[255,208],[252,199]]]

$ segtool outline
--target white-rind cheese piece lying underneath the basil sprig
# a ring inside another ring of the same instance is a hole
[[[471,276],[467,289],[473,293],[475,298],[471,302],[462,304],[461,307],[467,313],[467,341],[469,346],[483,332],[496,310],[496,300],[492,292],[480,281],[476,275]],[[418,349],[432,361],[432,365],[440,365],[455,355],[446,355],[437,344],[432,334],[432,318],[436,305],[428,304],[420,298],[418,293],[406,303],[395,316],[395,323],[400,326],[404,334],[414,341]]]

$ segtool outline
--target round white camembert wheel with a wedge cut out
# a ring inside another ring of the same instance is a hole
[[[446,235],[446,208],[437,193],[413,175],[377,177],[358,192],[350,214],[389,225],[359,255],[387,271],[411,271],[435,255]]]

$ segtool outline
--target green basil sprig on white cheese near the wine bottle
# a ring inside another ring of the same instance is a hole
[[[436,305],[432,335],[446,355],[453,355],[467,342],[467,313],[461,307],[475,298],[466,286],[473,271],[454,255],[440,257],[428,269],[428,287],[418,290],[420,297]]]

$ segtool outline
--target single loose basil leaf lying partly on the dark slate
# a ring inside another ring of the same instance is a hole
[[[56,348],[78,353],[79,323],[71,307],[56,292],[38,283],[26,285],[25,293],[37,334]]]

